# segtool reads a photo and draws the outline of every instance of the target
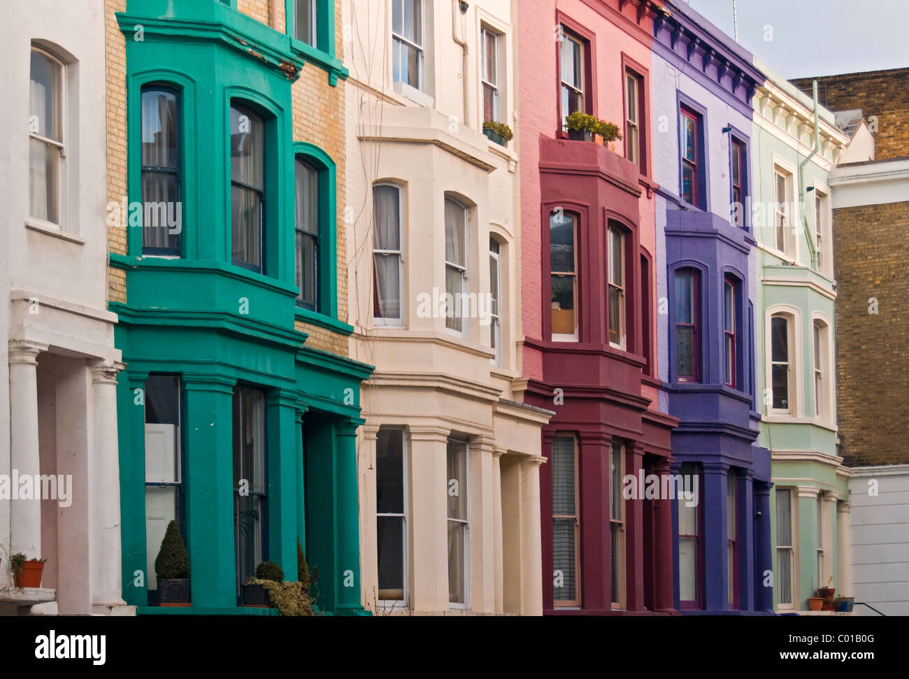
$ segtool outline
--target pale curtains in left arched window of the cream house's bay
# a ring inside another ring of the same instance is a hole
[[[386,251],[373,256],[377,318],[401,315],[401,195],[395,186],[373,188],[373,247]],[[392,251],[392,254],[387,254]]]

